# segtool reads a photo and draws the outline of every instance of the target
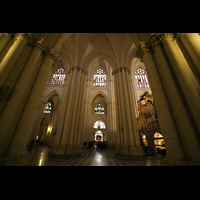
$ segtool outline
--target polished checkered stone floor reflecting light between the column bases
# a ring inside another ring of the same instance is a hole
[[[143,161],[115,158],[114,149],[82,149],[81,157],[50,155],[51,147],[34,146],[30,155],[30,166],[160,166],[159,157],[147,156]]]

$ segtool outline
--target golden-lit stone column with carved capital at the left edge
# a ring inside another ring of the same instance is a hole
[[[16,35],[15,42],[10,47],[9,51],[3,58],[0,64],[0,86],[6,80],[9,72],[17,61],[20,53],[28,42],[28,37],[26,37],[25,33],[19,33]]]

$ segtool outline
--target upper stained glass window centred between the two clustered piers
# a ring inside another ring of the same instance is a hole
[[[94,83],[93,86],[106,86],[106,72],[99,68],[94,73]]]

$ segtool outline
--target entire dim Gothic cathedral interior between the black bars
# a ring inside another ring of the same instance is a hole
[[[199,33],[0,33],[0,166],[199,166],[199,85]]]

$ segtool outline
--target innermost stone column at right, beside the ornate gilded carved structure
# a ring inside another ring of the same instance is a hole
[[[142,57],[147,70],[161,132],[166,144],[167,155],[163,159],[164,162],[162,160],[162,164],[186,165],[185,150],[180,141],[180,134],[170,107],[168,94],[164,88],[165,79],[161,79],[153,54],[144,43],[141,43],[137,56]],[[165,64],[165,62],[163,63]]]

